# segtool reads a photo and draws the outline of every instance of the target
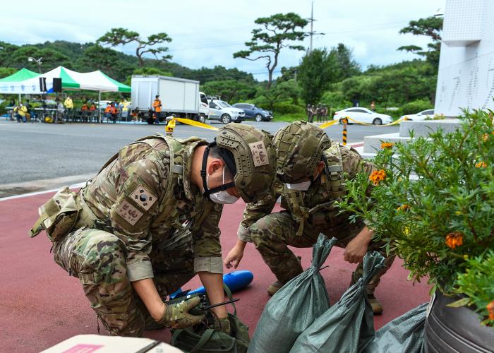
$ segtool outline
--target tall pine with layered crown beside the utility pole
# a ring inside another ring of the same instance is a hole
[[[261,17],[255,20],[261,28],[252,30],[252,39],[246,42],[248,49],[234,53],[234,58],[242,58],[251,61],[258,59],[266,60],[267,68],[267,90],[272,85],[272,74],[278,65],[279,53],[283,48],[304,50],[302,45],[296,45],[306,37],[307,33],[302,29],[307,25],[307,20],[296,13],[277,13],[270,17]],[[251,54],[259,52],[258,56]]]

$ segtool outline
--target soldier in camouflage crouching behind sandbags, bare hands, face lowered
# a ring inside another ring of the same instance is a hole
[[[280,129],[274,143],[277,149],[275,187],[263,200],[246,206],[237,244],[224,260],[227,268],[231,265],[236,268],[246,243],[253,242],[277,277],[267,289],[272,295],[302,272],[299,258],[288,246],[310,247],[319,233],[336,237],[337,246],[345,249],[344,260],[359,263],[352,282],[361,277],[366,251],[380,251],[386,257],[386,270],[390,268],[394,256],[386,256],[382,244],[371,240],[373,233],[362,220],[350,222],[349,214],[340,214],[334,204],[345,193],[344,175],[351,179],[359,172],[370,174],[373,164],[362,160],[356,150],[331,143],[322,129],[305,121]],[[284,210],[271,213],[279,196]],[[376,275],[367,287],[375,313],[382,311],[373,294],[384,273],[385,270]]]

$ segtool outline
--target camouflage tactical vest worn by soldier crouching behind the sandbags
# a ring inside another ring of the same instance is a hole
[[[337,157],[335,161],[334,157]],[[311,214],[323,210],[325,206],[331,207],[338,198],[341,198],[346,193],[344,175],[343,175],[343,160],[342,151],[339,148],[339,143],[331,143],[330,148],[323,151],[323,162],[325,162],[324,174],[320,176],[320,188],[323,188],[331,201],[316,205],[313,208],[308,208],[305,205],[306,191],[290,190],[286,185],[283,186],[282,195],[287,202],[288,209],[296,222],[299,222],[299,230],[296,235],[303,234],[303,224]]]

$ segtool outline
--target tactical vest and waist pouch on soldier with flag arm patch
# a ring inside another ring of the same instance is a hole
[[[174,186],[177,184],[183,186],[183,151],[188,143],[198,142],[201,139],[191,137],[186,140],[169,138],[162,134],[155,134],[139,138],[134,143],[142,142],[152,138],[164,140],[169,147],[170,159],[170,176],[168,178],[167,190],[159,204],[159,209],[162,210],[153,222],[162,222],[167,220],[171,227],[183,229],[188,225],[184,225],[183,220],[179,219],[179,210],[176,207],[176,199],[173,195]],[[119,152],[113,155],[100,169],[100,172],[109,164],[112,164],[119,157]],[[100,173],[98,172],[98,174]],[[83,192],[83,190],[82,190]],[[205,217],[210,213],[212,204],[205,203],[205,207],[200,210],[195,217],[194,225],[191,226],[191,231],[195,231],[200,227]],[[82,212],[81,212],[82,211]],[[40,217],[35,222],[35,225],[30,230],[30,237],[35,237],[42,230],[47,231],[50,240],[54,241],[68,232],[76,225],[76,220],[79,216],[84,217],[84,222],[88,227],[95,227],[107,232],[112,232],[111,222],[109,219],[100,220],[92,213],[89,206],[85,203],[83,197],[71,192],[68,187],[61,189],[44,205],[39,208]],[[81,213],[81,214],[80,214]],[[80,214],[80,215],[79,215]],[[78,224],[80,222],[77,222]]]

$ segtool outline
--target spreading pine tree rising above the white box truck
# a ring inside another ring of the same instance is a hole
[[[135,56],[139,59],[140,67],[144,66],[144,54],[146,53],[154,55],[158,60],[166,61],[167,59],[171,59],[171,55],[164,55],[161,59],[158,58],[158,54],[168,52],[168,47],[155,47],[157,44],[171,42],[171,38],[164,32],[150,35],[147,39],[143,39],[138,32],[133,32],[126,28],[112,28],[112,30],[100,37],[97,42],[100,44],[107,44],[110,47],[136,42],[137,48],[135,48]]]

